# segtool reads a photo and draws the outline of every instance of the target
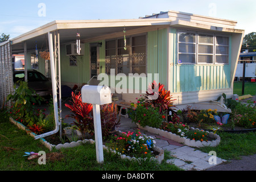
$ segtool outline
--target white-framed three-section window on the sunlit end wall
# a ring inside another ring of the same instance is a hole
[[[178,32],[179,64],[228,64],[229,38],[195,32]]]

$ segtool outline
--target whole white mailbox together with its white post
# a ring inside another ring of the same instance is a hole
[[[100,105],[112,102],[111,90],[108,86],[84,85],[81,88],[82,102],[93,105],[93,123],[96,144],[97,162],[104,162]]]

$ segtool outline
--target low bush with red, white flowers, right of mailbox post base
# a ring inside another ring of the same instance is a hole
[[[152,155],[152,148],[155,140],[152,137],[142,135],[138,129],[136,132],[123,132],[121,136],[115,135],[110,141],[109,146],[117,154],[125,154],[135,158],[145,158]]]

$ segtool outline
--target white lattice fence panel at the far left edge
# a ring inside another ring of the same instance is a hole
[[[0,43],[0,104],[5,105],[7,96],[12,93],[13,88],[13,63],[11,57],[11,43],[9,41]],[[10,106],[10,103],[7,104]]]

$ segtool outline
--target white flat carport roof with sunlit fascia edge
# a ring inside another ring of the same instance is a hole
[[[12,51],[23,52],[23,42],[27,43],[27,50],[38,49],[48,43],[48,32],[59,31],[60,43],[71,43],[76,40],[76,33],[80,33],[81,42],[87,39],[100,37],[108,34],[123,33],[123,27],[126,31],[146,26],[166,26],[170,25],[170,20],[161,19],[115,19],[115,20],[55,20],[44,26],[35,28],[25,34],[11,39]]]

